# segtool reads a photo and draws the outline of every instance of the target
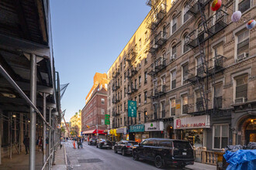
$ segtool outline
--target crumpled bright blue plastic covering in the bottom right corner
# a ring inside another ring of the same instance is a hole
[[[227,170],[254,170],[256,167],[256,150],[226,151],[223,157],[230,164]]]

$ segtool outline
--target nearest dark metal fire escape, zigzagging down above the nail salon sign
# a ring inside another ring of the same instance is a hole
[[[183,77],[184,80],[189,81],[193,87],[198,87],[199,97],[197,97],[195,104],[189,106],[188,114],[210,114],[216,109],[216,102],[213,104],[213,109],[209,110],[209,80],[215,84],[215,76],[217,73],[223,73],[225,67],[223,66],[224,56],[216,55],[213,58],[206,57],[206,41],[213,38],[218,32],[227,26],[227,13],[222,9],[216,11],[215,14],[209,16],[205,15],[205,7],[209,1],[197,0],[189,1],[189,14],[200,15],[202,22],[199,27],[186,37],[185,45],[192,49],[198,47],[199,60],[198,65],[188,70]],[[213,86],[214,90],[215,87]],[[214,101],[216,99],[214,98]],[[220,102],[220,101],[218,101]]]

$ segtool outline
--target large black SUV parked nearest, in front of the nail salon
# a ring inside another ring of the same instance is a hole
[[[147,159],[154,161],[157,168],[175,165],[184,168],[194,164],[194,155],[189,141],[148,138],[139,145],[133,146],[133,160]]]

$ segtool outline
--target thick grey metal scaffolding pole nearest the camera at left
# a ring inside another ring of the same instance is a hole
[[[36,55],[30,55],[30,100],[36,105]],[[36,110],[30,106],[29,170],[36,169]]]

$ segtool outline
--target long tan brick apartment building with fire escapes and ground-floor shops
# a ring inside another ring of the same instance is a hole
[[[213,151],[256,141],[256,33],[246,28],[256,1],[223,0],[217,12],[210,3],[147,1],[150,12],[108,71],[119,138],[144,124],[130,139],[180,138]],[[137,101],[129,123],[127,100]]]

